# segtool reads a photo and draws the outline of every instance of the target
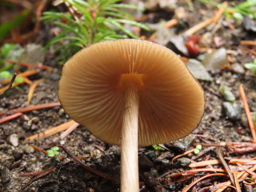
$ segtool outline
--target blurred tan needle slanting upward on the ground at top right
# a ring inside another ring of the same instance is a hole
[[[209,26],[210,24],[217,22],[220,19],[222,13],[224,12],[224,6],[227,6],[227,2],[222,3],[222,6],[218,7],[218,11],[215,13],[214,17],[198,23],[197,25],[186,30],[184,34],[187,36],[193,35],[198,30],[203,29],[206,26]]]

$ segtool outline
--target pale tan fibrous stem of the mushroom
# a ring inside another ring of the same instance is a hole
[[[122,125],[121,191],[139,191],[138,166],[139,95],[134,86],[125,90],[125,108]]]

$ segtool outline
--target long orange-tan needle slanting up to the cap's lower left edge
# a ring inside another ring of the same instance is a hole
[[[41,133],[37,133],[37,134],[31,135],[30,137],[27,137],[25,139],[25,141],[33,141],[34,139],[45,138],[45,137],[57,134],[57,133],[59,133],[61,131],[65,131],[66,129],[68,129],[74,123],[75,123],[75,121],[71,120],[71,121],[69,121],[67,123],[63,123],[61,125],[52,127],[51,129],[48,129],[48,130],[43,131]]]

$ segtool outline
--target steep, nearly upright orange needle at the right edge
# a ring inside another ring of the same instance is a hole
[[[254,129],[254,124],[253,124],[253,121],[252,121],[249,105],[248,105],[248,102],[247,102],[247,99],[246,99],[246,96],[245,96],[245,93],[244,93],[243,84],[239,85],[239,91],[240,91],[242,101],[244,103],[244,110],[245,110],[245,114],[246,114],[250,129],[251,129],[253,142],[256,142],[256,133],[255,133],[255,129]]]

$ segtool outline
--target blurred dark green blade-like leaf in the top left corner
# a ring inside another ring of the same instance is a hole
[[[19,26],[28,17],[28,14],[31,11],[31,9],[22,11],[21,14],[15,16],[11,21],[2,23],[2,25],[0,25],[0,40],[2,40],[5,35],[10,33],[12,29]]]

